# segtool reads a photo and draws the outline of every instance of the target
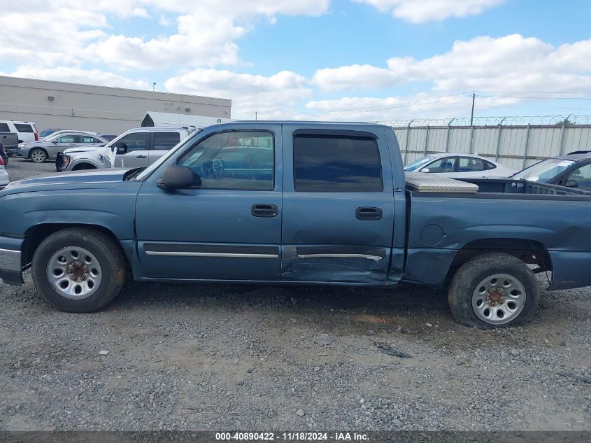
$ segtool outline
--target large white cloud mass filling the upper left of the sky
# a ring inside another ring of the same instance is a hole
[[[70,57],[73,64],[83,60],[117,69],[237,64],[236,41],[261,17],[273,22],[277,15],[318,16],[328,8],[329,0],[13,1],[0,16],[0,55],[31,50],[48,65],[63,65]],[[145,38],[109,24],[113,15],[151,19],[162,14],[176,17],[176,32]]]

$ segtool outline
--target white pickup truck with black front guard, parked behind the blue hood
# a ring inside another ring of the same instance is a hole
[[[58,153],[57,171],[105,167],[147,167],[192,132],[192,127],[137,127],[129,129],[105,146],[78,146]],[[113,160],[113,163],[111,162]]]

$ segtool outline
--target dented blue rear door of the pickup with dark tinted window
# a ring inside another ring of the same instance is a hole
[[[283,143],[281,280],[384,283],[394,197],[383,129],[285,125]]]

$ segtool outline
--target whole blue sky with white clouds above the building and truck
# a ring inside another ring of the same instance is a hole
[[[0,0],[0,74],[232,99],[232,116],[591,114],[588,0]]]

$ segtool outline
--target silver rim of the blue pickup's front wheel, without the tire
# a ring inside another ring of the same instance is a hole
[[[62,297],[82,300],[97,292],[103,272],[93,253],[80,246],[67,246],[49,259],[47,277]]]

